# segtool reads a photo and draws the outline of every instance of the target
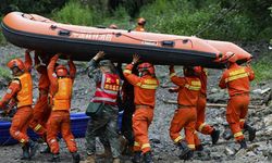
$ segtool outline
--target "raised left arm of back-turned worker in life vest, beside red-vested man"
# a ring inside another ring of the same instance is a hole
[[[48,77],[50,80],[50,87],[51,87],[51,93],[55,93],[58,92],[59,89],[59,85],[58,85],[58,76],[54,72],[54,66],[55,63],[59,59],[59,54],[55,54],[49,62],[48,67],[47,67],[47,73],[48,73]]]

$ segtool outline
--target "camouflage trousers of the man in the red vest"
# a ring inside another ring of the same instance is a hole
[[[102,115],[91,117],[86,130],[86,150],[87,154],[96,153],[96,137],[99,137],[104,147],[110,147],[113,158],[121,155],[120,141],[118,134],[118,114],[119,110],[115,106],[104,104]]]

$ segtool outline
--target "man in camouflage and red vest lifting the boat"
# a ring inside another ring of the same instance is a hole
[[[103,51],[99,51],[88,64],[88,76],[96,82],[96,92],[90,102],[100,103],[102,114],[91,116],[86,130],[86,163],[95,163],[96,137],[102,140],[104,152],[111,153],[113,163],[120,163],[120,141],[118,134],[119,108],[116,100],[121,88],[121,79],[110,60],[102,60]]]

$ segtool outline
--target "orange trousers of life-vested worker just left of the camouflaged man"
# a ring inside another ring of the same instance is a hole
[[[60,146],[57,141],[59,131],[61,131],[70,152],[76,152],[77,147],[74,136],[71,131],[71,121],[69,111],[52,111],[47,123],[47,142],[50,147],[51,153],[60,152]]]

